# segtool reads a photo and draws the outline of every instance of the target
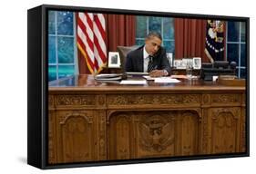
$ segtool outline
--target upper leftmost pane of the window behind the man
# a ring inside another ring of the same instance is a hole
[[[147,35],[147,16],[137,16],[136,37],[145,38]]]

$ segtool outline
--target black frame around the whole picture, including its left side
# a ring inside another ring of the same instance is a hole
[[[47,163],[48,150],[48,11],[87,11],[91,13],[137,14],[197,19],[219,19],[246,23],[246,151],[241,153],[209,154],[169,158],[150,158],[136,160],[105,160],[81,163],[50,165]],[[35,57],[39,57],[36,59]],[[250,156],[250,18],[228,15],[183,14],[127,9],[82,7],[69,5],[39,5],[27,10],[27,164],[39,169],[62,169],[119,164],[137,164],[179,160],[209,160]]]

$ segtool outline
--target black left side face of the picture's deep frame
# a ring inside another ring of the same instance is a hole
[[[42,6],[27,10],[27,164],[42,168]],[[39,58],[38,58],[39,57]]]

